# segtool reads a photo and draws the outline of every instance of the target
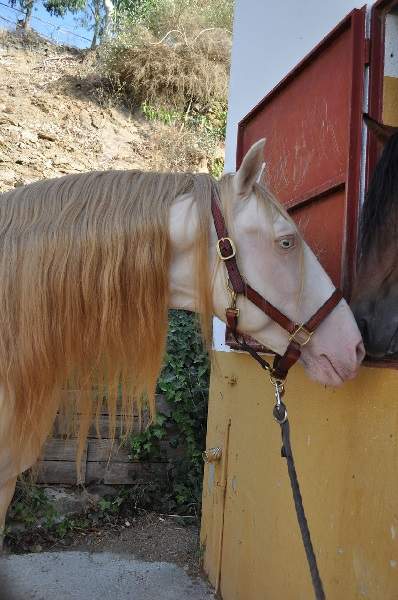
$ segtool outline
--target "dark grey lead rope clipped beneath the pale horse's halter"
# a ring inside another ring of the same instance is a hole
[[[246,342],[245,338],[242,336],[241,339],[238,338],[236,331],[232,332],[235,338],[236,343],[240,346],[241,350],[244,352],[248,352],[250,356],[254,358],[260,365],[264,371],[270,374],[271,383],[275,388],[275,406],[273,408],[272,414],[275,421],[280,425],[281,428],[281,436],[282,436],[282,448],[281,448],[281,456],[286,458],[287,470],[289,473],[290,486],[292,488],[294,507],[296,509],[297,521],[300,527],[301,539],[303,542],[305,554],[307,557],[308,566],[310,569],[311,579],[312,579],[312,587],[314,589],[314,594],[316,600],[325,600],[325,592],[323,589],[322,579],[319,574],[318,564],[315,556],[314,547],[311,541],[311,534],[308,527],[307,517],[305,516],[304,506],[303,506],[303,498],[301,496],[300,485],[298,482],[296,466],[294,464],[294,457],[292,451],[292,445],[290,442],[290,424],[287,417],[287,408],[282,401],[282,398],[285,393],[285,389],[283,386],[283,382],[278,379],[274,379],[272,377],[272,367],[271,365],[264,360],[257,352],[249,346]]]

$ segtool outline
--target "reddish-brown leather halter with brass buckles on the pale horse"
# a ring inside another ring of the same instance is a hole
[[[339,289],[335,289],[328,300],[316,311],[316,313],[306,322],[302,324],[295,323],[278,308],[273,306],[259,292],[252,288],[243,279],[236,261],[236,248],[232,239],[228,236],[228,230],[225,224],[223,214],[220,207],[220,197],[218,190],[213,185],[213,193],[211,197],[211,210],[213,214],[214,227],[217,232],[217,253],[220,259],[224,262],[228,272],[229,284],[228,289],[231,292],[231,306],[225,309],[225,316],[228,327],[231,329],[236,341],[242,350],[249,352],[261,366],[269,371],[272,380],[283,383],[286,379],[289,369],[298,361],[301,355],[301,348],[310,340],[315,330],[332,312],[337,304],[342,300],[343,294]],[[289,344],[283,356],[275,355],[274,364],[271,367],[262,359],[257,352],[243,338],[243,342],[239,341],[238,335],[238,320],[239,308],[236,307],[236,299],[239,295],[246,296],[257,308],[264,314],[270,317],[280,327],[289,333]]]

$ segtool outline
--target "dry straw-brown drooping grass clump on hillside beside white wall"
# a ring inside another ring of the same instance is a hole
[[[189,103],[202,106],[225,100],[228,92],[231,39],[217,29],[198,33],[192,41],[182,31],[157,41],[140,29],[131,45],[116,43],[106,49],[109,80],[116,81],[130,104],[148,101],[184,110]]]

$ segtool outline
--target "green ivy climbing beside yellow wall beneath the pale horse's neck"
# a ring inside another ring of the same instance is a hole
[[[130,439],[134,458],[153,460],[159,457],[159,441],[174,432],[169,444],[182,448],[183,457],[173,462],[169,485],[162,490],[169,511],[198,514],[200,510],[209,375],[209,359],[196,317],[186,311],[170,311],[158,392],[165,396],[171,413],[158,415],[144,433]]]

